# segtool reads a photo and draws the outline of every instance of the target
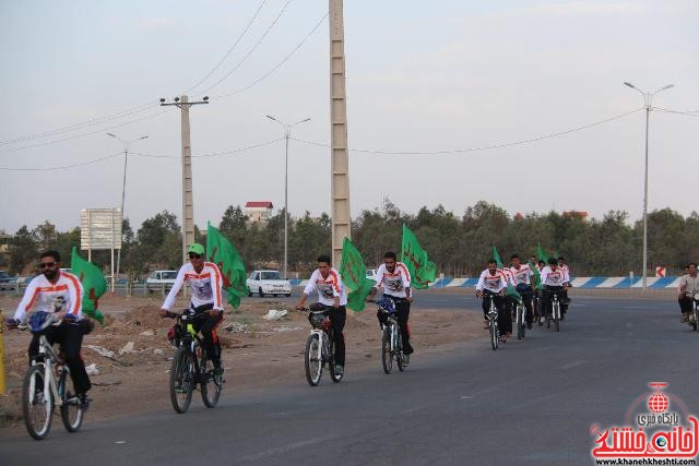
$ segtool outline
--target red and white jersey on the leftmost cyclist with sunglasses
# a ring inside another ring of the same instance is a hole
[[[35,311],[61,312],[83,316],[83,285],[80,279],[68,272],[58,272],[58,280],[50,283],[42,275],[35,276],[24,291],[24,297],[14,319],[22,321],[26,314]]]

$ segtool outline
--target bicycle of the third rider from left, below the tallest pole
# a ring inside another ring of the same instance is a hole
[[[310,386],[317,386],[323,374],[323,367],[328,365],[330,379],[334,383],[342,381],[343,373],[335,372],[335,335],[330,319],[330,307],[315,303],[308,311],[308,322],[312,330],[306,340],[306,351],[304,367],[306,369],[306,380]]]

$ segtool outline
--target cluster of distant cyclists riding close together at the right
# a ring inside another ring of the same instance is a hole
[[[561,320],[565,320],[570,299],[570,270],[564,256],[550,258],[547,263],[530,256],[526,264],[521,263],[518,254],[510,256],[510,266],[497,266],[497,261],[490,259],[487,268],[481,273],[476,284],[476,296],[483,299],[484,328],[488,328],[489,302],[493,299],[498,311],[498,331],[500,343],[506,343],[512,335],[512,313],[521,299],[525,308],[525,323],[532,328],[535,308],[537,311],[541,299],[540,325],[552,312],[554,295],[561,302]]]

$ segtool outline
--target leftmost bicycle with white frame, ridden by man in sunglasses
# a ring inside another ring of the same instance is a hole
[[[63,427],[71,433],[80,430],[85,415],[68,366],[45,335],[50,325],[59,323],[55,314],[39,311],[34,312],[22,328],[39,334],[39,353],[32,359],[22,384],[24,426],[35,440],[44,440],[50,432],[56,406],[60,406]]]

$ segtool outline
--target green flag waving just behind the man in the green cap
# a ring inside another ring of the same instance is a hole
[[[240,306],[240,297],[248,295],[245,264],[235,246],[211,224],[206,230],[206,256],[210,262],[218,265],[228,302],[237,308]]]

